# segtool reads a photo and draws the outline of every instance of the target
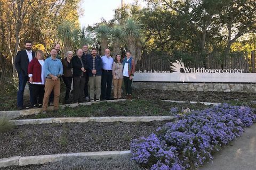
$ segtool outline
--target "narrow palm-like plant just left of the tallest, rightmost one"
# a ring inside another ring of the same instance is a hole
[[[120,54],[120,46],[123,40],[123,29],[119,26],[111,29],[111,37],[113,38],[113,56]]]

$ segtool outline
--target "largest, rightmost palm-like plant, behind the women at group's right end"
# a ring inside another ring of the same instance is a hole
[[[133,58],[137,58],[136,56],[136,44],[137,41],[141,37],[141,24],[129,18],[124,24],[124,38],[127,43],[128,49],[131,51]]]

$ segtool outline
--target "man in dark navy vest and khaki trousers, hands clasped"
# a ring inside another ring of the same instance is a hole
[[[102,60],[97,56],[95,48],[92,48],[92,56],[87,58],[87,64],[91,102],[94,101],[94,95],[96,95],[96,101],[100,101]]]

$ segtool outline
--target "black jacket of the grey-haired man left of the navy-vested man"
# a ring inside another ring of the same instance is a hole
[[[87,63],[86,63],[86,60],[85,58],[81,57],[82,59],[82,62],[84,64],[84,69],[86,70],[87,69]],[[81,68],[83,67],[82,66],[82,63],[80,61],[80,59],[78,58],[78,56],[74,56],[71,60],[72,62],[72,66],[73,66],[73,77],[80,77],[83,73],[83,76],[85,75],[84,72],[82,72]]]

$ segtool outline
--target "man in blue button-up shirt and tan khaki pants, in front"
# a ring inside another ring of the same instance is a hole
[[[57,59],[57,50],[51,50],[51,56],[44,61],[44,75],[46,77],[44,86],[44,101],[43,101],[43,114],[47,111],[49,96],[53,90],[54,111],[59,109],[60,100],[60,77],[63,74],[63,66],[59,59]]]

